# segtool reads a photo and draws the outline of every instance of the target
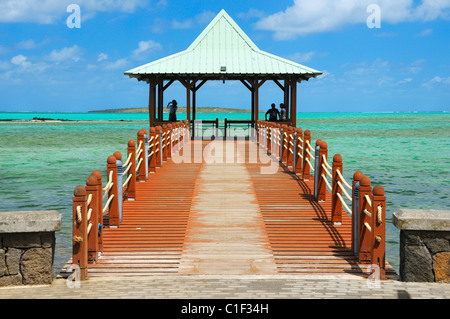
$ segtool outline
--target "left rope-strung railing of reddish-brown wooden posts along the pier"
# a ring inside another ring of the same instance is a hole
[[[123,217],[123,202],[136,198],[136,183],[145,182],[149,173],[180,150],[190,140],[188,121],[172,122],[150,127],[137,133],[137,140],[127,145],[127,158],[115,152],[108,156],[106,185],[102,174],[93,171],[86,186],[75,188],[73,197],[73,258],[72,264],[79,267],[80,279],[88,278],[88,265],[94,264],[103,251],[103,228],[120,227]]]

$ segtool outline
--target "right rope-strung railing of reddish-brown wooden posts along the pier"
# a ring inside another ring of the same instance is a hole
[[[328,144],[318,139],[313,147],[309,130],[257,121],[256,131],[258,144],[292,173],[304,181],[314,178],[315,200],[324,202],[331,197],[330,221],[334,225],[342,224],[342,212],[351,216],[354,255],[361,263],[378,267],[380,278],[385,279],[386,197],[383,186],[372,189],[370,178],[360,171],[353,175],[352,183],[348,183],[343,176],[342,156],[335,154],[330,165]]]

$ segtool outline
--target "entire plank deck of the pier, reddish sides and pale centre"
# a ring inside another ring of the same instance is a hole
[[[249,161],[252,141],[190,143],[217,147],[203,152],[201,163],[168,159],[137,183],[136,200],[123,203],[120,227],[104,228],[103,252],[89,266],[90,277],[367,276],[367,264],[351,252],[350,217],[343,212],[338,226],[330,221],[328,192],[318,203],[314,182],[300,180],[283,164],[274,174],[261,174],[269,164]],[[386,273],[395,274],[389,264]]]

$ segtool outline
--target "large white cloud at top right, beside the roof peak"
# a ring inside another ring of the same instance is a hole
[[[381,8],[381,24],[448,18],[450,0],[294,0],[285,11],[259,20],[256,28],[275,32],[276,39],[336,31],[348,24],[366,23],[370,4]]]

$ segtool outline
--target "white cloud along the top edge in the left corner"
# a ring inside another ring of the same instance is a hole
[[[67,17],[66,8],[73,0],[0,0],[0,22],[55,23]],[[95,12],[134,12],[144,7],[148,0],[77,0],[82,14],[86,17]]]

